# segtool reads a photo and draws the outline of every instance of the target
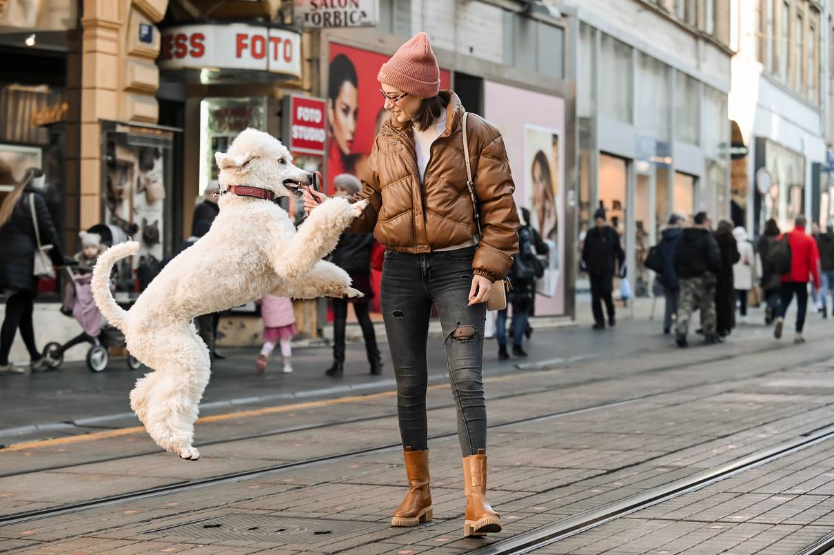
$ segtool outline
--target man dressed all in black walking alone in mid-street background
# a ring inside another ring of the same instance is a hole
[[[594,213],[595,226],[585,234],[582,245],[582,263],[590,279],[590,308],[594,313],[594,329],[605,330],[605,311],[608,314],[608,325],[615,325],[614,299],[611,296],[614,289],[614,273],[617,265],[622,268],[625,263],[625,253],[620,245],[620,234],[606,223],[605,209],[597,209]]]

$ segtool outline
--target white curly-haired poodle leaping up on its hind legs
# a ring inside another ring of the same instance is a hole
[[[224,190],[244,186],[249,191],[238,189],[239,194],[265,189],[276,198],[300,198],[302,188],[312,184],[312,174],[291,164],[283,144],[256,129],[246,129],[229,152],[214,157]],[[278,204],[239,194],[220,196],[211,230],[171,260],[130,310],[113,300],[109,276],[118,260],[138,251],[138,242],[114,245],[93,271],[98,308],[124,332],[130,353],[153,369],[136,382],[131,408],[153,441],[192,461],[200,457],[192,447],[193,423],[210,367],[208,349],[192,325],[194,316],[267,294],[295,299],[362,295],[350,287],[344,270],[321,258],[367,201],[327,199],[296,230]]]

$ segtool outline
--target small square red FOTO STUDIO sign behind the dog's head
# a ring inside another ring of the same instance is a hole
[[[327,149],[327,103],[321,98],[288,95],[281,110],[284,144],[292,153],[324,156]]]

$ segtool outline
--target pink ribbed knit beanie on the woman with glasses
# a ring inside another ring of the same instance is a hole
[[[440,68],[431,51],[429,35],[417,33],[382,64],[377,81],[419,98],[434,98],[440,92]]]

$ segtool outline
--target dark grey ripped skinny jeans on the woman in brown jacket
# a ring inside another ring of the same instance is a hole
[[[464,457],[486,450],[486,405],[481,361],[486,304],[468,306],[477,247],[408,255],[385,251],[379,301],[397,378],[403,447],[428,448],[426,341],[431,305],[443,327],[446,362]]]

